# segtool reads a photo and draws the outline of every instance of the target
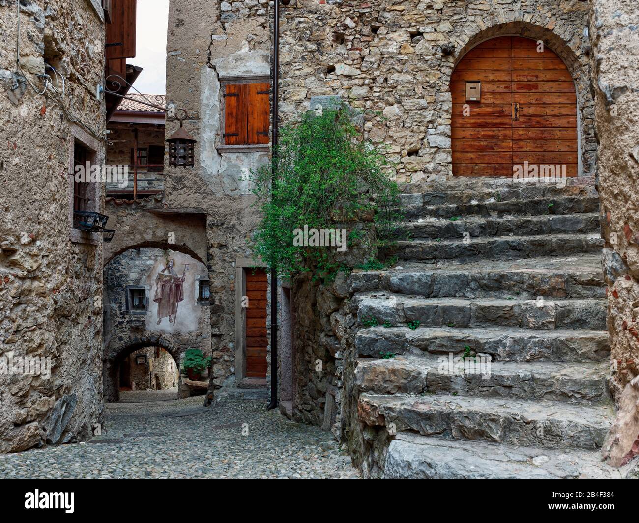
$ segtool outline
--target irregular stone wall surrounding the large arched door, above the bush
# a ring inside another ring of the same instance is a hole
[[[364,137],[397,162],[394,178],[417,183],[451,172],[450,73],[493,36],[543,40],[578,91],[584,174],[596,142],[589,80],[589,4],[554,0],[299,0],[282,9],[282,119],[313,96],[339,95],[364,111]]]

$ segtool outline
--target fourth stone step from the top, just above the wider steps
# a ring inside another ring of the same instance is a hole
[[[590,234],[540,234],[538,236],[494,236],[454,240],[397,242],[395,254],[401,260],[474,261],[477,258],[511,260],[539,256],[569,256],[601,252],[604,246],[599,232]]]

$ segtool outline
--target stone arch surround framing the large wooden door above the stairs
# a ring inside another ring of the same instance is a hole
[[[550,26],[548,26],[550,27]],[[477,45],[499,36],[517,36],[541,41],[548,49],[552,50],[566,65],[570,73],[576,91],[577,104],[577,140],[578,140],[578,174],[594,174],[596,161],[596,139],[594,135],[594,112],[592,109],[591,81],[589,75],[588,54],[589,45],[587,38],[579,38],[573,31],[561,29],[560,34],[548,27],[539,26],[531,22],[516,20],[513,22],[498,23],[487,27],[472,37],[461,35],[452,50],[452,68],[447,72],[447,83],[450,86],[452,72],[460,61],[477,47]]]

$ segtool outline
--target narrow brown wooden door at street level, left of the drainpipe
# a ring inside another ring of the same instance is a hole
[[[246,269],[246,375],[266,377],[266,271]]]

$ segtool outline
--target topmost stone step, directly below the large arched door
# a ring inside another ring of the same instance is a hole
[[[461,186],[460,186],[461,185]],[[516,183],[508,179],[477,178],[468,184],[433,186],[419,193],[401,194],[401,205],[422,207],[445,204],[470,204],[472,202],[507,202],[561,197],[591,197],[596,195],[594,185],[567,185],[564,187],[546,183]]]

